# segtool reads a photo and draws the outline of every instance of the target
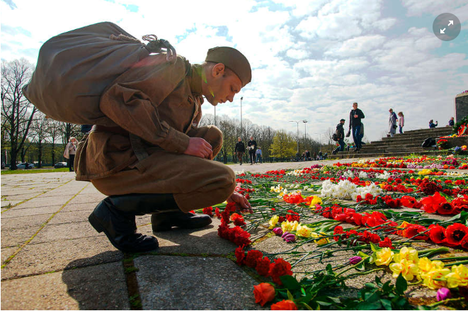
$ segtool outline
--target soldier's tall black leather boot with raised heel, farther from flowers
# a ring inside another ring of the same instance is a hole
[[[172,194],[128,194],[105,198],[89,215],[97,232],[104,232],[120,251],[152,251],[159,247],[155,237],[137,233],[135,215],[179,210]]]

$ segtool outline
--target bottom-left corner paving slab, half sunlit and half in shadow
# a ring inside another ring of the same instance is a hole
[[[121,262],[1,283],[2,310],[130,310]]]

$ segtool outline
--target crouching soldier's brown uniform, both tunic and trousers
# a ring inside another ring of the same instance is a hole
[[[184,212],[226,200],[235,188],[232,169],[183,154],[190,137],[207,140],[213,156],[222,146],[218,128],[196,126],[203,102],[198,72],[200,65],[183,57],[171,64],[161,54],[122,74],[104,92],[100,108],[143,142],[131,142],[129,135],[115,131],[90,132],[76,151],[76,179],[90,180],[107,196],[173,193]]]

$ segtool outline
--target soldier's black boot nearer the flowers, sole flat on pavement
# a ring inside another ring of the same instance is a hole
[[[151,215],[153,232],[171,230],[174,226],[183,229],[196,229],[210,225],[211,222],[211,217],[208,215],[183,213],[180,210]]]

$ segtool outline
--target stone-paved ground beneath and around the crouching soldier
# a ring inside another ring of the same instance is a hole
[[[229,167],[263,173],[335,162]],[[2,310],[266,309],[254,301],[258,281],[231,259],[236,246],[217,236],[219,220],[201,230],[159,232],[158,251],[131,256],[89,225],[103,198],[74,173],[1,176]],[[152,234],[149,215],[137,217],[137,225]],[[258,249],[273,249],[272,243]]]

